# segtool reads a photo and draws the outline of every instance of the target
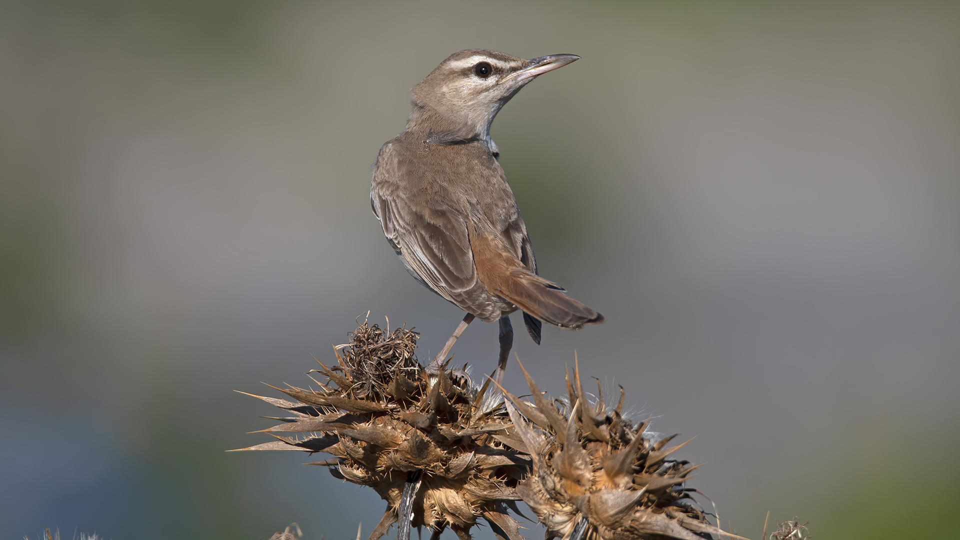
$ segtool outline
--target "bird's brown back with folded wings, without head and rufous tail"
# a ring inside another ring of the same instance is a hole
[[[483,222],[536,273],[530,238],[503,169],[482,140],[426,142],[408,130],[380,149],[371,202],[384,234],[418,281],[487,321],[513,309],[477,276],[470,234]]]

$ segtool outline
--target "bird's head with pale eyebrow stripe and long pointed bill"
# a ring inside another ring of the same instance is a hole
[[[578,59],[549,55],[524,60],[483,49],[456,52],[411,89],[411,120],[419,110],[429,110],[434,122],[442,121],[451,131],[489,139],[493,117],[520,88]]]

